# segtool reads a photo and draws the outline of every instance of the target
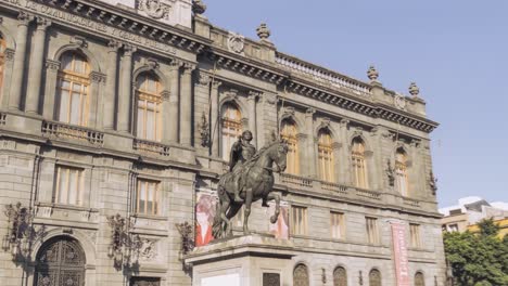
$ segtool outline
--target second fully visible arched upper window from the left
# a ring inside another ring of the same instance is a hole
[[[143,73],[137,78],[138,100],[137,135],[140,139],[161,141],[162,96],[161,82],[152,73]]]

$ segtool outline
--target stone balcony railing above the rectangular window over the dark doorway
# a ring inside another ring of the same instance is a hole
[[[104,144],[104,133],[62,122],[42,121],[42,135],[52,139],[84,142],[93,146],[103,146]]]

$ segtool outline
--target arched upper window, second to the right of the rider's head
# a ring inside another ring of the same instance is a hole
[[[318,133],[319,178],[327,182],[335,181],[332,144],[330,131],[321,129]]]

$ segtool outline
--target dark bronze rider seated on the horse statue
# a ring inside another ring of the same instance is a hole
[[[240,192],[242,186],[240,185],[241,171],[243,170],[243,165],[249,161],[255,154],[256,147],[251,144],[252,132],[245,130],[242,132],[242,135],[239,136],[238,141],[231,147],[231,153],[229,157],[229,171],[234,176],[234,202],[243,203],[243,199],[240,197]]]

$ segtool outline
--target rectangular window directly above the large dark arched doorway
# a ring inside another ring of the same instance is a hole
[[[82,169],[56,167],[53,203],[64,205],[81,205]]]

